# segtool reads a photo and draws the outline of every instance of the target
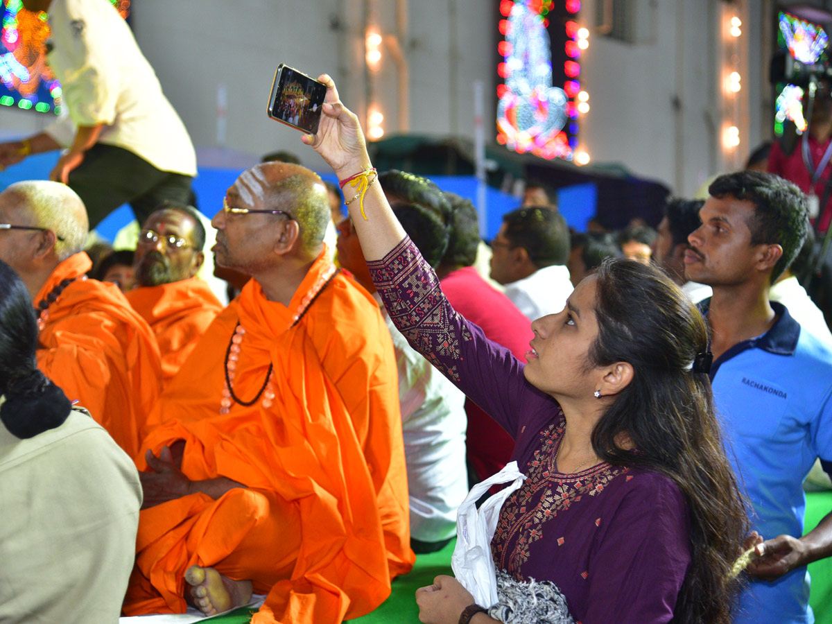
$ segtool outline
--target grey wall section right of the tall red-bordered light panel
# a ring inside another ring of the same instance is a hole
[[[591,14],[596,2],[583,2]],[[665,182],[690,196],[706,179],[745,161],[770,138],[770,92],[765,42],[770,2],[753,2],[740,37],[742,114],[740,146],[722,146],[727,119],[721,76],[723,2],[717,0],[633,0],[640,23],[635,43],[594,34],[582,59],[590,111],[582,123],[582,143],[595,162],[622,162],[641,176]],[[753,103],[749,106],[749,100]],[[724,117],[725,116],[725,117]]]

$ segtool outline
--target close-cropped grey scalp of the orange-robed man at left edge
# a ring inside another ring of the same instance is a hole
[[[55,233],[58,238],[55,255],[59,262],[84,249],[89,232],[87,208],[69,186],[47,180],[15,182],[0,193],[0,198],[18,225],[32,225]]]

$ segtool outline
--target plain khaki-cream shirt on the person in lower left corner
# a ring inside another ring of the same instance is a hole
[[[118,622],[140,507],[131,458],[86,410],[27,440],[0,423],[0,622]]]

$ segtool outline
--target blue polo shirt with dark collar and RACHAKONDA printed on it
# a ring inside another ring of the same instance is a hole
[[[704,314],[711,301],[701,304]],[[714,362],[711,384],[726,451],[764,539],[803,535],[803,481],[815,458],[832,461],[832,349],[792,319],[784,305],[765,334],[735,344]],[[735,624],[811,624],[809,572],[752,581]]]

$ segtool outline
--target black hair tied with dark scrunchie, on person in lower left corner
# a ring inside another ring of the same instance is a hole
[[[0,260],[0,420],[17,438],[62,425],[71,405],[37,369],[37,317],[26,286]]]

